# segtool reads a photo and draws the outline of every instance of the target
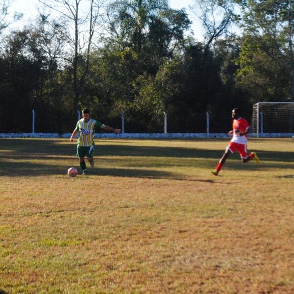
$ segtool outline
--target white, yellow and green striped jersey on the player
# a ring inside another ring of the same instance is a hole
[[[94,134],[98,127],[105,128],[105,124],[92,119],[89,119],[88,122],[85,122],[84,119],[79,120],[75,127],[75,130],[79,132],[77,145],[83,147],[94,145]]]

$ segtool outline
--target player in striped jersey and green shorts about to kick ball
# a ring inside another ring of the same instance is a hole
[[[95,130],[98,127],[112,131],[116,134],[121,132],[120,129],[114,129],[108,125],[100,123],[96,120],[90,118],[90,110],[88,108],[83,109],[82,111],[83,118],[76,123],[76,127],[73,130],[73,134],[71,136],[71,142],[73,142],[73,138],[75,135],[79,133],[79,138],[77,140],[77,154],[79,158],[80,167],[83,170],[83,174],[87,174],[88,170],[86,168],[85,156],[87,156],[88,161],[90,162],[91,167],[94,167],[94,134]]]

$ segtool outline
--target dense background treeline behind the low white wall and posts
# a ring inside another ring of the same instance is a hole
[[[258,101],[294,101],[292,0],[195,0],[199,42],[167,0],[40,0],[0,14],[0,132],[72,132],[77,111],[125,132],[230,129]],[[23,12],[25,16],[25,12]],[[12,27],[14,27],[12,29]],[[9,29],[10,28],[10,29]],[[237,33],[235,32],[237,31]]]

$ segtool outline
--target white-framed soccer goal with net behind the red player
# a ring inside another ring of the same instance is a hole
[[[257,137],[294,135],[294,102],[258,102],[253,105],[252,133]]]

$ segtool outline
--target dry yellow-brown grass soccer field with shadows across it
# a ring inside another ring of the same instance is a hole
[[[294,293],[294,140],[96,141],[1,139],[0,293]]]

